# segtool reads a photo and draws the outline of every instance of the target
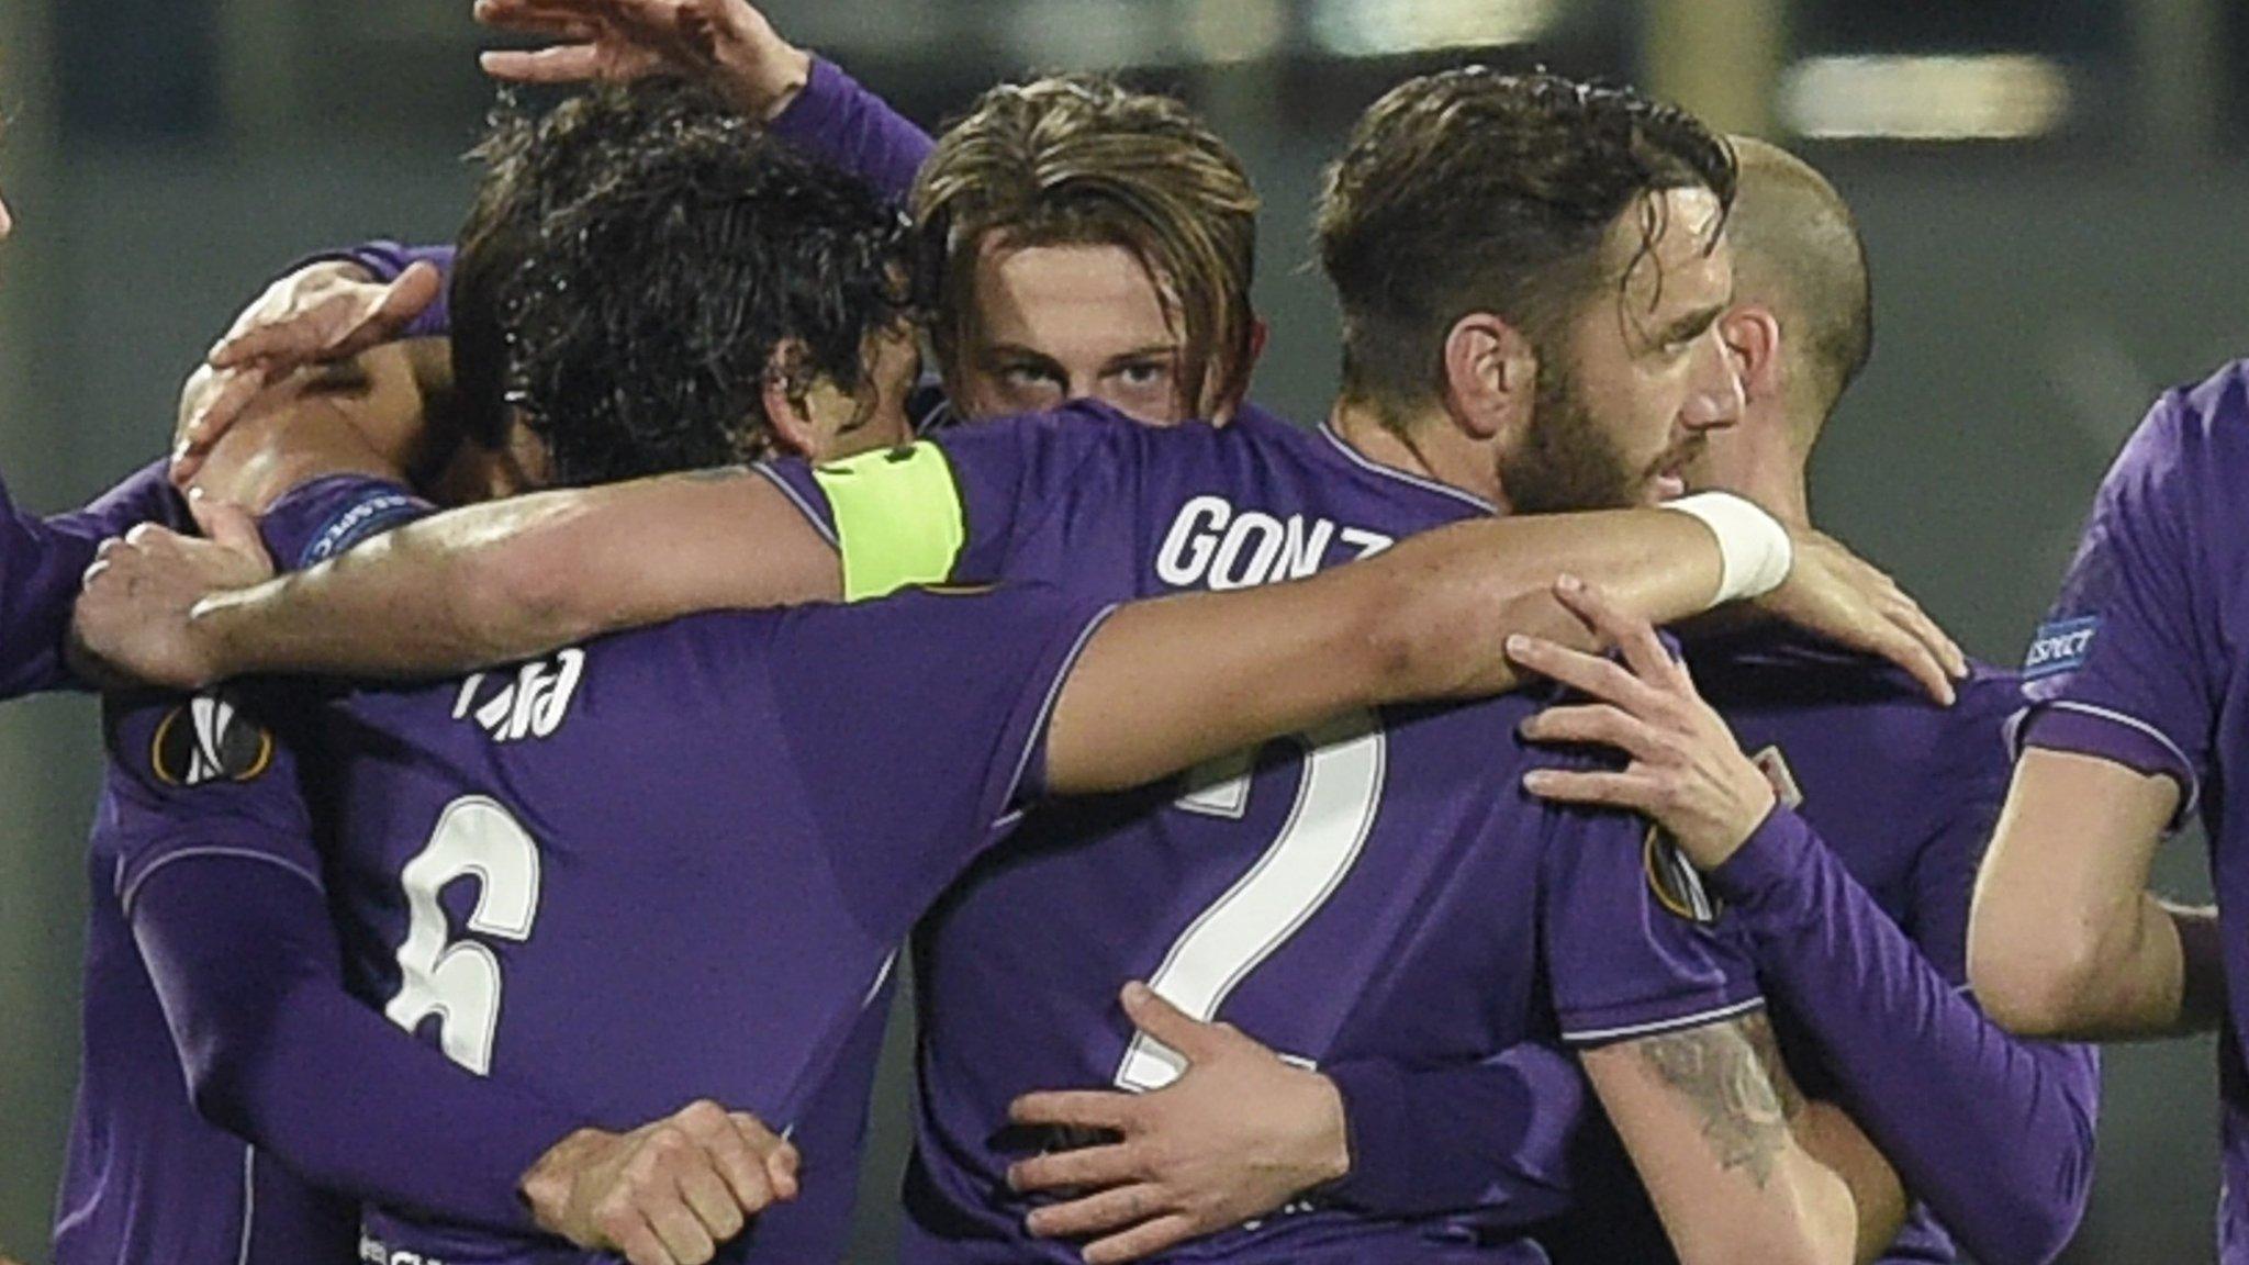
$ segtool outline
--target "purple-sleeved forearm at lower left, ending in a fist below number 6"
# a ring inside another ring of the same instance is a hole
[[[133,930],[196,1107],[315,1186],[531,1231],[517,1179],[582,1121],[481,1080],[344,993],[319,891],[254,860],[157,871]]]

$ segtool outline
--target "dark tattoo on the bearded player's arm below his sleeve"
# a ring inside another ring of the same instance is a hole
[[[1788,1123],[1804,1110],[1804,1094],[1772,1040],[1772,1022],[1747,1015],[1646,1038],[1637,1049],[1664,1085],[1693,1101],[1718,1164],[1747,1170],[1763,1188],[1788,1148]]]

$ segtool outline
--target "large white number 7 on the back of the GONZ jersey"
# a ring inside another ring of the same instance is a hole
[[[1358,862],[1383,799],[1385,738],[1370,714],[1331,720],[1295,736],[1304,772],[1295,806],[1273,844],[1176,939],[1149,988],[1196,1020],[1210,1020],[1237,984],[1311,918]],[[1241,817],[1248,810],[1248,756],[1199,779],[1178,799],[1187,813]],[[1118,1067],[1124,1089],[1160,1089],[1185,1071],[1172,1047],[1133,1033]]]

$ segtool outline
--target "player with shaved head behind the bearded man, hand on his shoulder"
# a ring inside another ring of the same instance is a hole
[[[1873,344],[1864,245],[1817,171],[1756,140],[1734,144],[1736,304],[1720,333],[1745,405],[1689,482],[1808,524],[1806,464]],[[1615,619],[1606,632],[1626,646],[1651,637]],[[1923,1202],[1889,1258],[2051,1260],[2092,1184],[2094,1056],[2015,1040],[1961,993],[1968,898],[2011,770],[2004,727],[2022,707],[2020,680],[1979,669],[1957,707],[1936,709],[1907,678],[1772,626],[1689,639],[1691,682],[1655,657],[1631,662],[1637,682],[1572,664],[1570,680],[1619,714],[1556,714],[1532,732],[1662,734],[1727,770],[1711,783],[1747,788],[1752,808],[1774,799],[1756,792],[1743,754],[1754,752],[1781,810],[1693,860],[1750,932],[1799,1083],[1851,1103]],[[1642,788],[1669,772],[1646,763]],[[1664,804],[1626,804],[1673,826]],[[1559,1260],[1649,1254],[1653,1218],[1635,1224],[1606,1197],[1586,1206],[1601,1211],[1547,1231]]]

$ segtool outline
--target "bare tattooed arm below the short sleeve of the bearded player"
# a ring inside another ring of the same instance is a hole
[[[1763,1013],[1588,1049],[1586,1076],[1682,1265],[1876,1260],[1905,1195],[1788,1078]]]

